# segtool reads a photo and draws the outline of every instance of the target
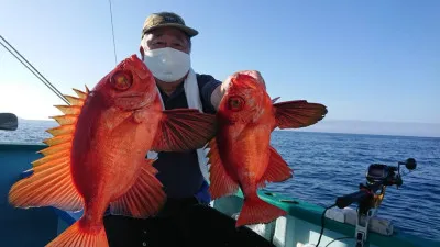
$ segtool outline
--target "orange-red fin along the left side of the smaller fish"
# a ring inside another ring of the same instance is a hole
[[[209,142],[208,147],[210,148],[208,153],[209,162],[211,164],[209,168],[209,192],[212,200],[234,194],[239,190],[239,184],[228,175],[224,166],[220,159],[219,149],[217,146],[217,141],[213,138]]]

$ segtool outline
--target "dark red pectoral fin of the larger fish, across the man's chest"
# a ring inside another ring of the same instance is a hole
[[[163,112],[152,150],[187,151],[204,147],[216,135],[216,115],[195,109]]]

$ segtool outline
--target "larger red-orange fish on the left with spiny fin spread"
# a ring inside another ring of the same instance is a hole
[[[75,90],[75,89],[74,89]],[[82,217],[47,246],[108,246],[102,216],[147,217],[166,200],[148,150],[201,148],[216,132],[215,115],[163,111],[153,75],[135,55],[120,63],[94,90],[75,90],[73,105],[57,106],[61,126],[33,162],[33,175],[10,190],[16,207],[84,209]]]

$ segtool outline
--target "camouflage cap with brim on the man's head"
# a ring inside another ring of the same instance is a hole
[[[172,12],[160,12],[153,13],[148,18],[146,18],[144,26],[142,29],[141,38],[146,32],[162,26],[173,26],[185,32],[189,37],[194,37],[199,33],[197,30],[187,26],[184,19],[182,19],[178,14]]]

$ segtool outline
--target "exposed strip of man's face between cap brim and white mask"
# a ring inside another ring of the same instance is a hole
[[[189,54],[190,44],[188,36],[178,29],[166,26],[153,30],[145,34],[145,49],[172,47]]]

